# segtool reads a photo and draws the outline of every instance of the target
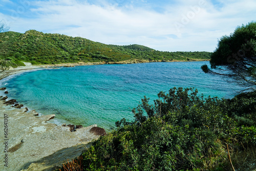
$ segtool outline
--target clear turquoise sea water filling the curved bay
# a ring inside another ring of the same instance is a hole
[[[1,80],[8,97],[42,115],[55,114],[56,123],[97,124],[106,130],[115,121],[133,119],[141,98],[157,99],[173,87],[197,88],[205,96],[232,98],[239,86],[216,75],[204,74],[200,62],[156,62],[97,65],[38,70]],[[3,93],[3,91],[1,92]],[[0,95],[1,96],[1,95]]]

